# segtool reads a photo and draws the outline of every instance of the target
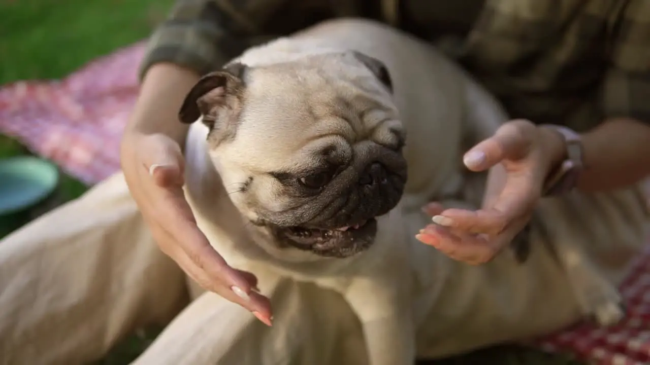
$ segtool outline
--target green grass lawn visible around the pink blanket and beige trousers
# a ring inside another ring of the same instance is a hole
[[[55,79],[95,57],[145,38],[164,18],[173,0],[5,0],[0,1],[0,84],[20,79]],[[0,136],[0,158],[27,154],[22,145]],[[64,175],[62,201],[86,186]],[[31,216],[21,216],[17,226]],[[0,236],[6,234],[0,227]],[[495,329],[498,331],[498,329]],[[155,338],[156,329],[133,334],[98,364],[128,364]],[[515,346],[495,347],[432,364],[577,364]]]

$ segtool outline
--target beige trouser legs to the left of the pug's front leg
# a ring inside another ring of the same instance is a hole
[[[365,363],[338,294],[289,281],[267,290],[281,320],[266,331],[216,294],[183,309],[185,274],[153,242],[118,173],[0,242],[0,364],[87,363],[137,327],[174,317],[136,364]]]

